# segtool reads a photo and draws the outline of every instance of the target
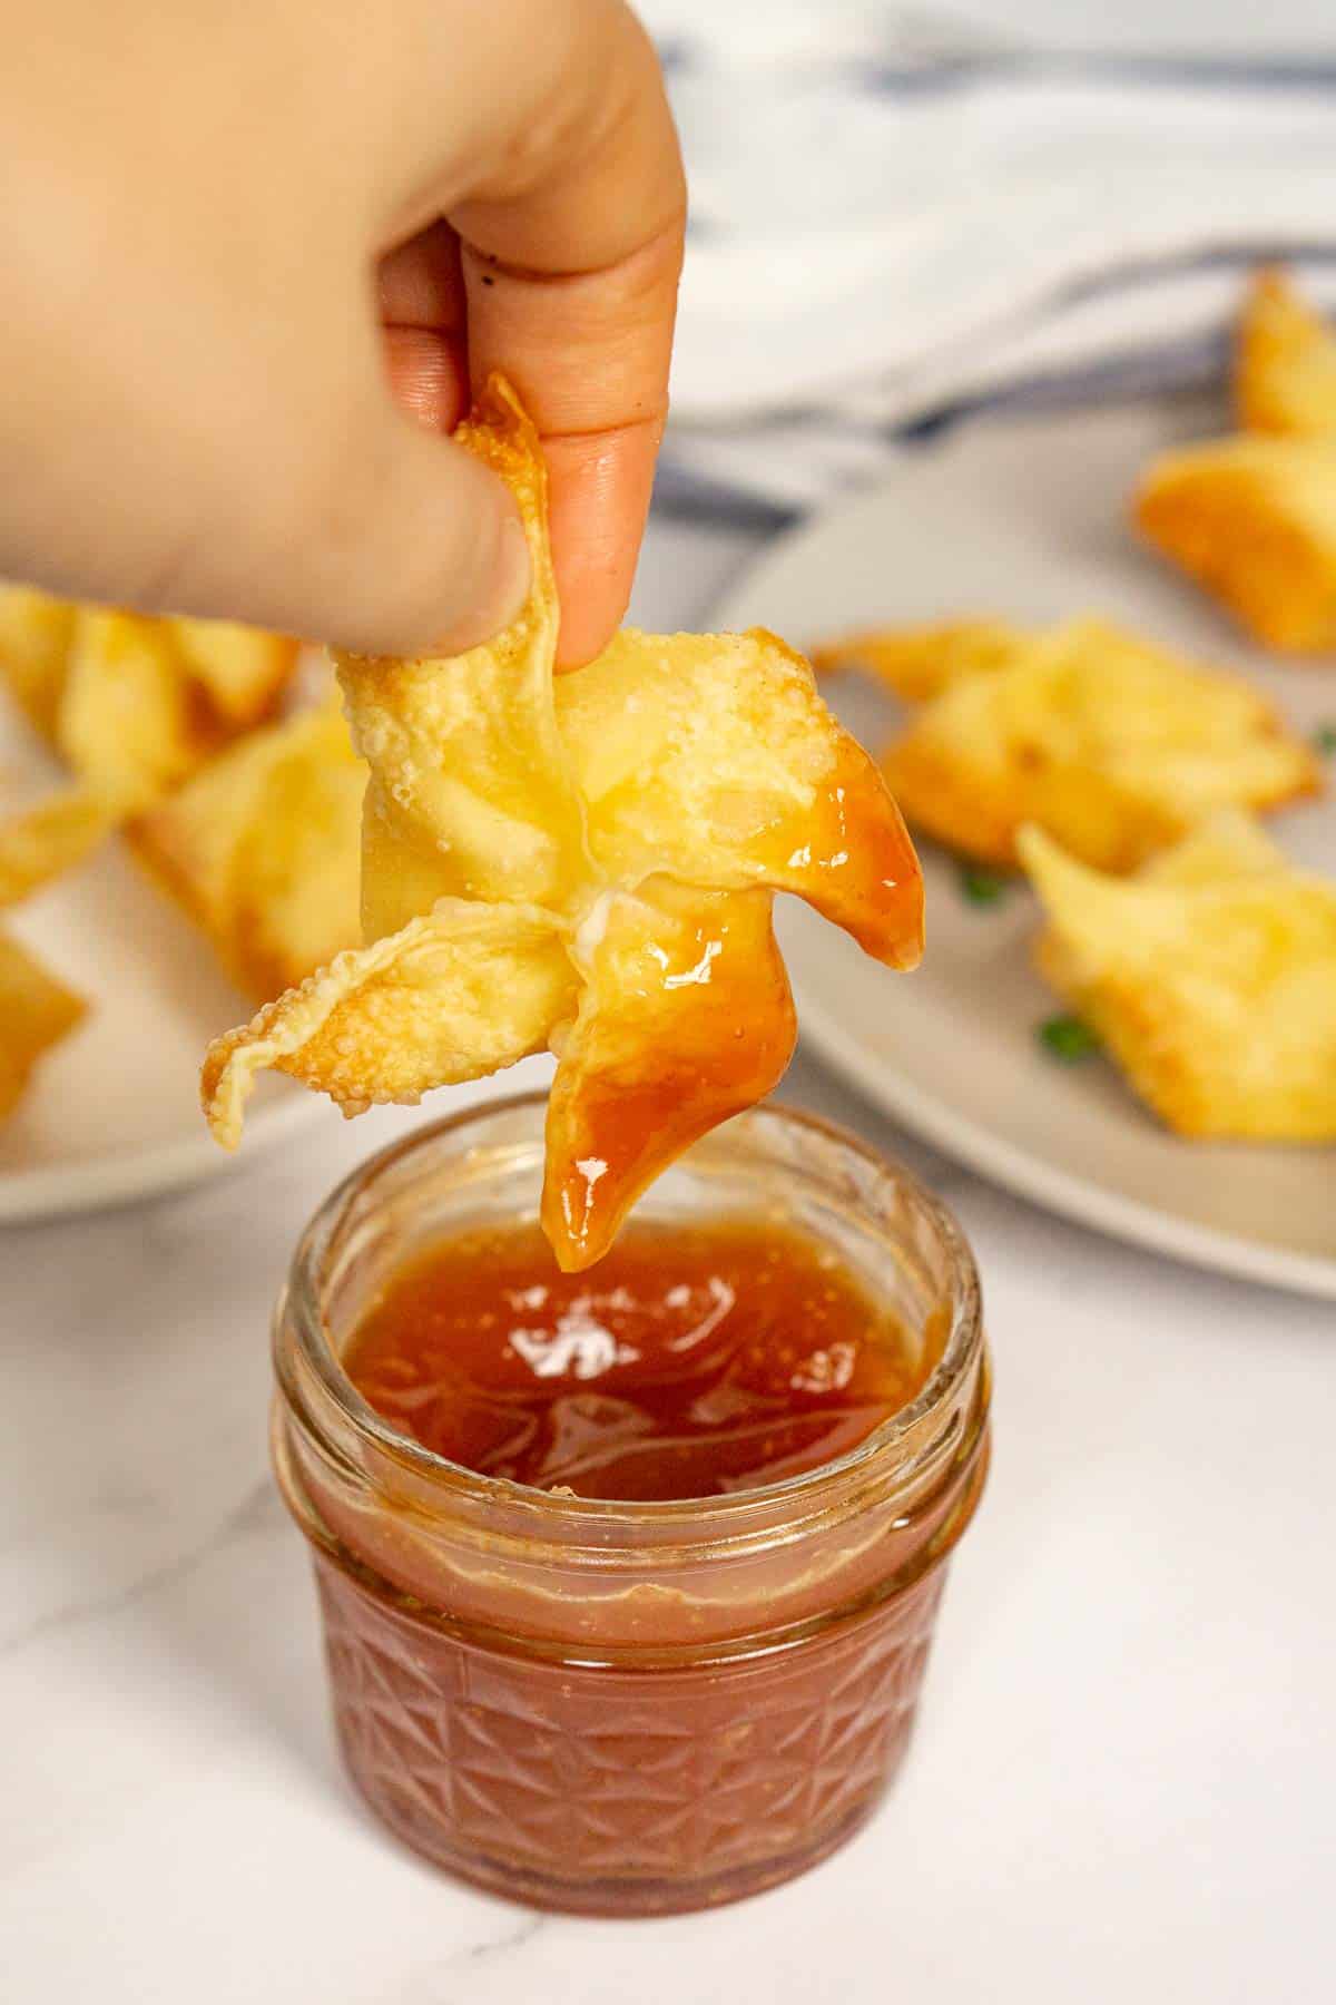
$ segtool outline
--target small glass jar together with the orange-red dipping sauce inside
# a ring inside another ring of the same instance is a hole
[[[561,1273],[545,1117],[423,1129],[312,1221],[274,1464],[381,1823],[509,1899],[685,1913],[899,1768],[987,1466],[977,1283],[913,1179],[775,1107]]]

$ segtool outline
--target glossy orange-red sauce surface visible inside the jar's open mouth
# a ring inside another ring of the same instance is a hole
[[[835,1462],[931,1359],[829,1249],[755,1221],[631,1225],[585,1273],[537,1225],[463,1231],[391,1279],[343,1365],[449,1462],[631,1502]]]

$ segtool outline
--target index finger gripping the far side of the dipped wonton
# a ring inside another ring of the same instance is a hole
[[[473,387],[503,369],[543,435],[567,668],[599,654],[631,595],[685,231],[657,58],[629,12],[607,18],[591,116],[571,106],[545,160],[451,211]]]

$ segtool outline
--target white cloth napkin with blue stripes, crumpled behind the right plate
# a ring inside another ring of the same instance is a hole
[[[1336,62],[841,0],[647,14],[693,198],[667,499],[805,509],[961,405],[1202,381],[1264,257],[1336,301]]]

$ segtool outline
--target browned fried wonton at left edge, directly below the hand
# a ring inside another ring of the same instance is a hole
[[[0,822],[0,904],[72,868],[108,830],[278,704],[296,642],[216,620],[150,620],[0,587],[0,682],[74,784]]]

